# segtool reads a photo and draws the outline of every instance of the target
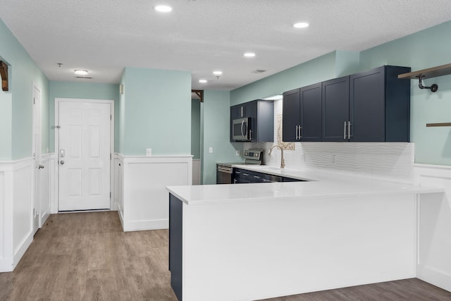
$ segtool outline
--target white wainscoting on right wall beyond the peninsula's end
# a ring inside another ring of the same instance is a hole
[[[414,164],[414,182],[445,190],[419,199],[416,277],[451,291],[451,166]]]

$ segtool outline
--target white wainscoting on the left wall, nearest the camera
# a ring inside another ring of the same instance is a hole
[[[32,235],[32,158],[0,162],[0,272],[13,271]]]

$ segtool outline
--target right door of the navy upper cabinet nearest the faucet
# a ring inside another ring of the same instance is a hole
[[[301,98],[301,141],[321,141],[322,110],[321,82],[302,87]],[[285,113],[285,112],[284,112]]]

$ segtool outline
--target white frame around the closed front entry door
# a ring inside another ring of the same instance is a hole
[[[58,126],[59,126],[59,104],[60,102],[89,102],[89,103],[97,103],[97,104],[110,104],[111,106],[111,123],[110,123],[110,210],[116,210],[116,206],[114,204],[114,194],[113,194],[113,183],[114,183],[114,100],[113,99],[85,99],[85,98],[63,98],[63,97],[55,97],[55,123],[52,128],[55,130],[55,145],[54,145],[54,154],[55,154],[55,192],[54,192],[54,202],[51,204],[51,212],[59,213],[59,168],[58,168],[58,145],[59,145],[59,135],[58,135]]]

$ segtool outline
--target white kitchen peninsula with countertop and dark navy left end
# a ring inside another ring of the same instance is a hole
[[[168,187],[179,300],[258,300],[415,276],[416,196],[440,188],[237,167],[307,181]]]

